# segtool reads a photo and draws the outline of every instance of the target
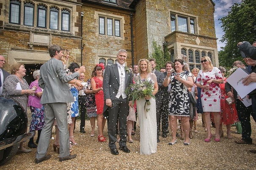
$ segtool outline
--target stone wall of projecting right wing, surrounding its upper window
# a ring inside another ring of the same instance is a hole
[[[182,35],[182,32],[179,32],[179,35],[173,35],[173,42],[195,44],[195,35],[198,35],[202,38],[199,46],[216,48],[217,53],[215,8],[211,0],[140,0],[136,5],[135,13],[136,56],[138,58],[145,58],[142,57],[145,54],[151,55],[153,40],[162,46],[162,43],[166,41],[165,36],[171,34],[171,11],[196,18],[195,34],[184,33]]]

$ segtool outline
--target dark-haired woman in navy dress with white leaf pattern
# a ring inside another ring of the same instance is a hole
[[[181,123],[185,134],[184,145],[190,144],[190,100],[188,87],[193,87],[193,78],[189,71],[184,71],[182,59],[174,60],[174,72],[167,72],[163,86],[167,87],[171,83],[171,93],[169,96],[169,120],[172,131],[172,139],[169,145],[177,143],[176,127],[177,117],[181,116]]]

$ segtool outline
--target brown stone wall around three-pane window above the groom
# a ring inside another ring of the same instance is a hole
[[[84,12],[83,17],[83,43],[85,43],[83,50],[83,63],[86,65],[86,73],[85,79],[91,78],[91,72],[94,69],[94,66],[99,63],[96,61],[97,54],[107,55],[115,55],[119,49],[127,50],[127,65],[131,65],[132,63],[132,54],[131,54],[131,27],[130,27],[130,12],[128,11],[120,11],[114,10],[111,8],[104,7],[98,5],[84,4],[82,7],[82,11]],[[110,16],[116,15],[124,17],[124,37],[114,37],[108,35],[99,35],[98,32],[98,17],[96,12],[107,13]],[[133,20],[134,22],[134,20]],[[135,30],[133,29],[134,34]],[[135,38],[134,38],[135,41]],[[136,62],[135,62],[136,63]],[[87,79],[86,79],[87,80]]]

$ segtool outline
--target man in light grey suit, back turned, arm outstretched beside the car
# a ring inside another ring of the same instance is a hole
[[[75,158],[77,155],[70,155],[69,132],[67,127],[67,105],[74,102],[74,97],[70,92],[67,82],[77,78],[80,73],[85,72],[85,67],[71,74],[66,75],[63,63],[60,60],[63,56],[61,47],[52,45],[48,49],[51,59],[40,68],[38,84],[44,89],[41,96],[41,104],[44,104],[44,128],[41,132],[36,151],[36,163],[50,159],[51,155],[46,155],[50,143],[52,124],[56,119],[59,128],[60,157],[59,161]],[[74,84],[77,84],[75,81]]]

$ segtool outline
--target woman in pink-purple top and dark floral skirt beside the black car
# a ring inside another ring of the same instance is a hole
[[[38,79],[40,75],[40,70],[35,70],[33,72],[33,78],[35,81],[31,82],[30,89],[36,89],[35,95],[28,96],[28,106],[30,107],[31,111],[31,123],[29,127],[29,132],[33,132],[33,135],[35,134],[35,131],[37,130],[37,140],[36,143],[38,143],[41,130],[44,126],[44,106],[40,104],[41,96],[43,94],[43,89],[41,89],[38,86]],[[36,144],[34,143],[34,138],[30,138],[28,142],[28,147],[30,148],[36,148]]]

